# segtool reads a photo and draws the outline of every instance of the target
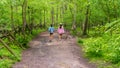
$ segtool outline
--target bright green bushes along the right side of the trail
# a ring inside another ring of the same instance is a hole
[[[111,63],[111,65],[105,66],[105,68],[120,67],[119,26],[120,20],[118,19],[107,23],[105,26],[97,26],[91,29],[90,34],[93,35],[90,38],[82,39],[85,55],[90,59],[99,58],[99,61]],[[78,43],[81,43],[81,39],[78,39]],[[104,65],[102,65],[103,67]]]

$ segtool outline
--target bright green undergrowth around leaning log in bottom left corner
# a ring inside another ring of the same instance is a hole
[[[22,51],[22,49],[20,49],[16,45],[10,45],[10,48],[15,52],[18,59],[20,60],[21,59],[21,51]],[[3,59],[0,59],[0,67],[1,68],[10,68],[13,63],[18,61],[18,59],[16,59],[6,48],[2,48],[0,50],[0,56],[3,57]]]

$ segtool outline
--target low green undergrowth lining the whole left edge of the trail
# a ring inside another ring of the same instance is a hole
[[[23,47],[28,47],[27,44],[34,36],[39,34],[40,32],[44,31],[41,29],[33,30],[32,34],[27,34],[26,39],[24,39],[23,35],[16,35],[16,40],[23,45]],[[4,42],[9,42],[7,38],[3,39]],[[0,47],[2,44],[0,44]],[[0,56],[3,57],[3,59],[0,59],[0,67],[1,68],[10,68],[12,64],[14,64],[17,61],[21,60],[21,52],[22,49],[13,43],[9,43],[9,47],[12,49],[12,51],[17,55],[18,59],[14,57],[6,48],[0,49]]]

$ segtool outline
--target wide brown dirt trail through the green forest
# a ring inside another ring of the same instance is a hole
[[[49,33],[41,33],[29,43],[30,48],[23,51],[22,60],[13,68],[96,68],[83,58],[76,38],[66,36],[67,39],[59,41],[54,33],[54,39],[49,42]]]

